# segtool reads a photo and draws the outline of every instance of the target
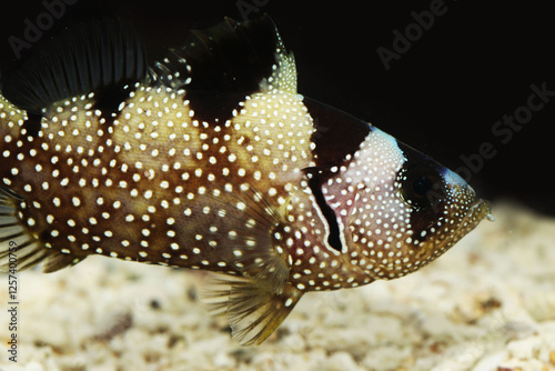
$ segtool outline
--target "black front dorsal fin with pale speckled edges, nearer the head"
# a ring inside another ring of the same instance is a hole
[[[250,94],[265,89],[296,93],[293,56],[285,51],[273,21],[236,22],[230,18],[205,30],[192,30],[184,44],[154,63],[159,83],[189,91]]]

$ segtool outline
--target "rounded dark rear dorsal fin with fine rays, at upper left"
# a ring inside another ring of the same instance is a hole
[[[17,107],[40,113],[52,103],[89,92],[109,92],[147,76],[142,41],[131,22],[79,23],[37,47],[4,77],[2,93]]]

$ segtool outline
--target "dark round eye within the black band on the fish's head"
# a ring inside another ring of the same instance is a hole
[[[400,176],[401,194],[406,203],[417,209],[427,209],[441,202],[445,193],[440,172],[426,163],[410,166]]]

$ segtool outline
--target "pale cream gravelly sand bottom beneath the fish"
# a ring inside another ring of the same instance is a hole
[[[18,274],[18,362],[0,370],[555,370],[555,219],[509,204],[431,265],[360,289],[310,293],[259,348],[208,314],[199,272],[89,258]]]

